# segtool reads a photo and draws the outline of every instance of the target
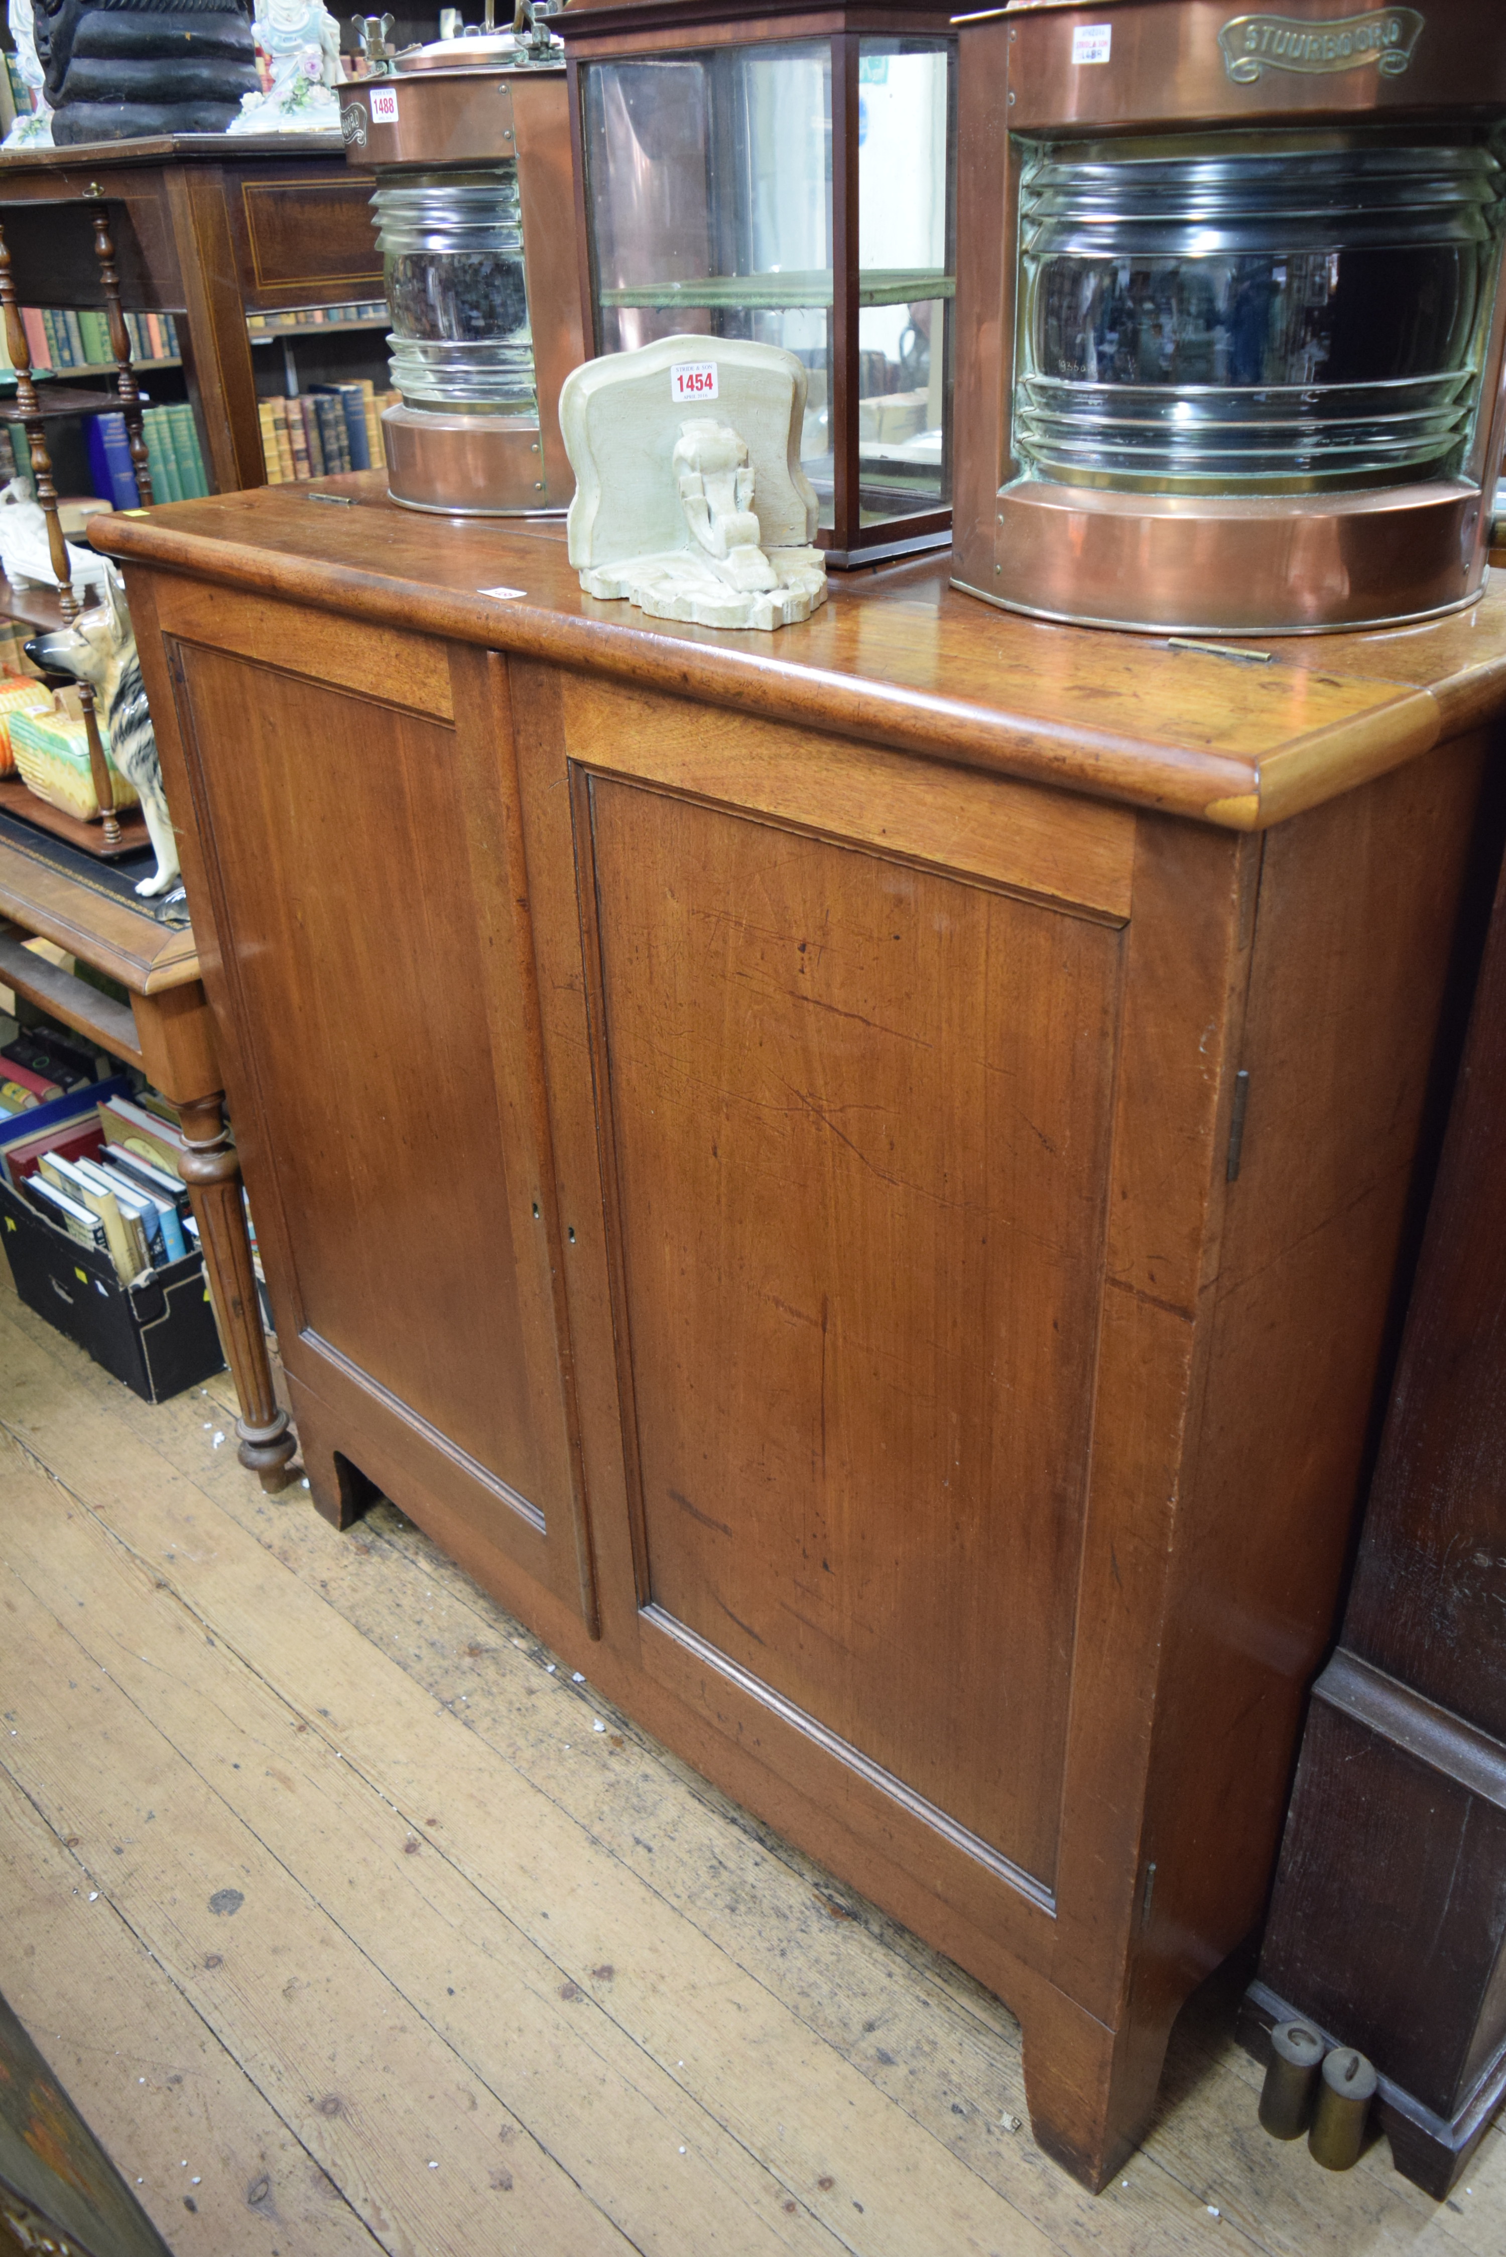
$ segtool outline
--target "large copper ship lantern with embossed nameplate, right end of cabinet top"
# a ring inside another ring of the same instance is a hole
[[[955,585],[1206,634],[1468,605],[1501,0],[1018,0],[962,65]]]

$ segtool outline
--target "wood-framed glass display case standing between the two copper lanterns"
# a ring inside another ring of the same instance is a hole
[[[745,336],[806,366],[829,564],[951,535],[955,77],[914,0],[637,0],[555,18],[587,350]]]

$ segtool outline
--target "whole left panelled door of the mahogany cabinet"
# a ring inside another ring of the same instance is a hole
[[[594,1625],[506,682],[418,636],[194,598],[221,648],[169,634],[169,664],[255,1029],[237,1135],[287,1365],[359,1397],[364,1474],[422,1458],[481,1544]]]

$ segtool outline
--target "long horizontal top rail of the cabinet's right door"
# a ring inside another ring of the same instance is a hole
[[[1129,916],[1136,824],[1124,808],[962,767],[917,767],[903,754],[840,736],[634,695],[562,675],[571,758],[592,770],[655,776],[813,828],[822,837],[937,862],[1104,916]]]

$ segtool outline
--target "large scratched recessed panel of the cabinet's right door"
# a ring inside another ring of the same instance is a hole
[[[1050,1885],[1120,939],[589,801],[648,1596]]]

